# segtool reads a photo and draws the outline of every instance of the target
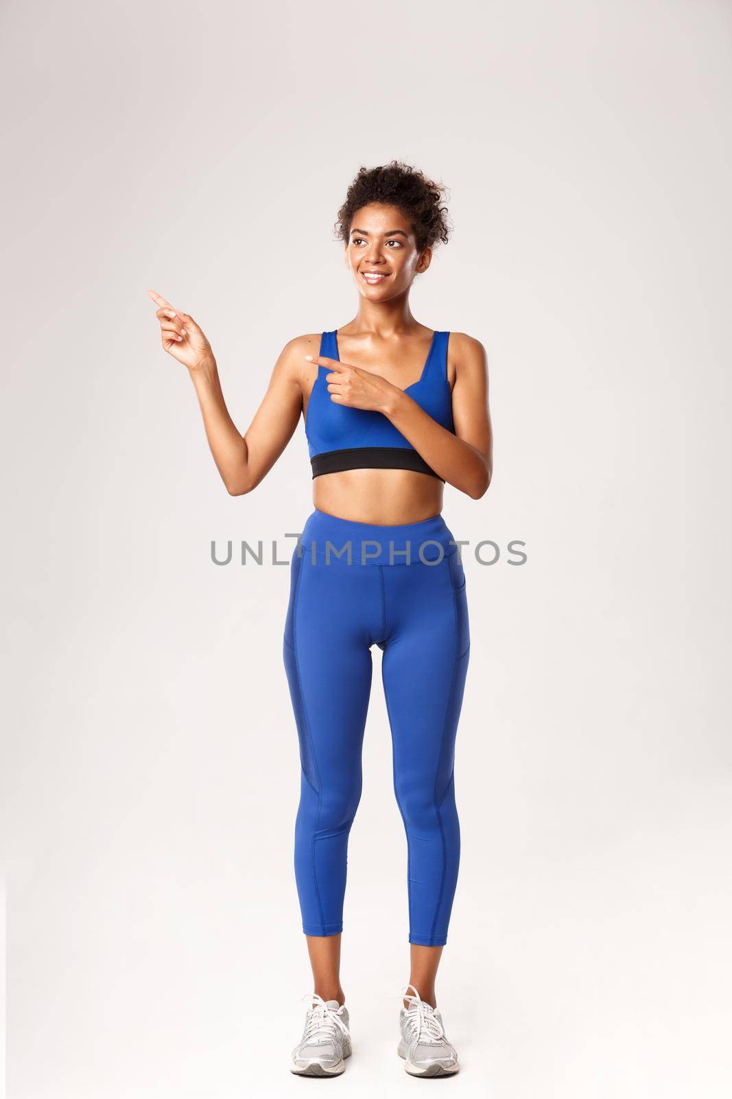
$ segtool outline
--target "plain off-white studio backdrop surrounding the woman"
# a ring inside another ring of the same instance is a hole
[[[471,668],[438,983],[462,1096],[730,1094],[729,264],[723,2],[23,4],[2,26],[8,1086],[295,1094],[312,987],[281,659],[302,423],[230,498],[153,287],[245,431],[283,344],[357,300],[361,164],[450,188],[415,286],[488,353],[495,476],[446,489]],[[336,1087],[396,1057],[406,842],[374,648]],[[307,1087],[307,1085],[305,1085]]]

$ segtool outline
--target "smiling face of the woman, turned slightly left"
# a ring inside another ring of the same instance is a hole
[[[412,223],[398,207],[370,202],[353,214],[345,258],[364,298],[387,301],[408,290],[431,256],[431,248],[417,249]]]

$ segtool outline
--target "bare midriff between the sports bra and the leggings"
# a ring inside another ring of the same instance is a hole
[[[313,504],[338,519],[394,526],[439,515],[443,488],[413,469],[345,469],[313,478]]]

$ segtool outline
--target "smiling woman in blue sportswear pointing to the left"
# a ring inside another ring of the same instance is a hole
[[[305,419],[315,510],[291,562],[283,636],[302,771],[295,879],[314,978],[291,1063],[301,1075],[337,1075],[351,1052],[340,939],[373,644],[383,652],[408,853],[412,972],[397,1052],[412,1075],[458,1070],[435,981],[460,857],[453,750],[470,632],[442,486],[474,500],[484,495],[492,430],[482,344],[461,332],[432,332],[409,309],[415,278],[448,240],[442,200],[442,188],[401,162],[359,170],[337,222],[357,314],[336,331],[286,344],[244,436],[203,332],[149,291],[162,346],[190,371],[233,496],[260,484],[301,412]]]

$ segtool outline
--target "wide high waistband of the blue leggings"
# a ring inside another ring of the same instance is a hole
[[[382,526],[339,519],[317,508],[307,517],[301,546],[313,559],[323,556],[334,564],[347,560],[353,565],[437,563],[458,552],[442,515]]]

